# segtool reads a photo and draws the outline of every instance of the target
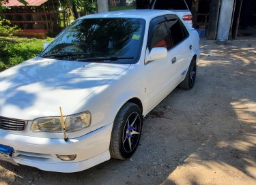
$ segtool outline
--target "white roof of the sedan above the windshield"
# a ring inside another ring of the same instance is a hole
[[[82,18],[143,18],[145,20],[152,20],[152,18],[167,14],[175,14],[175,12],[170,10],[119,10],[90,14]]]

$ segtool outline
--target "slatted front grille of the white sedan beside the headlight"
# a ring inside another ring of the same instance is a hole
[[[0,129],[9,131],[24,131],[26,121],[16,120],[12,118],[5,118],[0,116]]]

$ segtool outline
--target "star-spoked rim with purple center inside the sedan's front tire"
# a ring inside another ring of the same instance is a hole
[[[137,147],[141,135],[141,117],[138,112],[132,112],[126,120],[123,132],[123,146],[126,152],[132,152]]]

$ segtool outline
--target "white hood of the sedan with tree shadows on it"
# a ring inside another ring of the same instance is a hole
[[[130,65],[35,57],[0,73],[0,116],[33,120],[72,110]]]

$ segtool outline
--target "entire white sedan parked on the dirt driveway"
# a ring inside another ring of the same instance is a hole
[[[74,172],[129,158],[143,117],[176,86],[193,88],[199,56],[197,31],[171,11],[79,18],[0,73],[0,161]]]

